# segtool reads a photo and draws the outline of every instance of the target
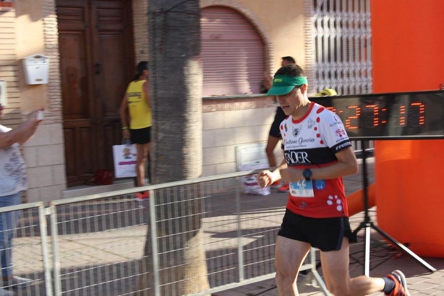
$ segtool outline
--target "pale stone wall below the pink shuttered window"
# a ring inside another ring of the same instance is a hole
[[[203,99],[202,106],[202,176],[237,171],[236,146],[265,143],[276,106],[269,97]],[[276,146],[281,162],[283,152]]]

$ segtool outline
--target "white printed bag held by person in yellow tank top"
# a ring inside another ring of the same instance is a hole
[[[135,177],[137,163],[137,147],[135,144],[113,146],[114,176],[116,178]]]

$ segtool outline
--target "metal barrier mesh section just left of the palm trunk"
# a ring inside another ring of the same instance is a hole
[[[148,212],[133,194],[59,200],[50,208],[56,295],[135,291]]]

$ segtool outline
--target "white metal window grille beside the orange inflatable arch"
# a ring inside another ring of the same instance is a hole
[[[370,0],[308,1],[311,18],[306,28],[311,45],[306,51],[312,51],[309,64],[314,91],[332,88],[338,94],[370,93]]]

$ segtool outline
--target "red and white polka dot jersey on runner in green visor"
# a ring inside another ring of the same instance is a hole
[[[352,144],[339,117],[311,103],[298,120],[288,116],[280,125],[284,156],[289,168],[325,167],[337,162],[335,154]],[[289,194],[287,208],[306,217],[348,217],[342,178],[312,180],[314,197]]]

